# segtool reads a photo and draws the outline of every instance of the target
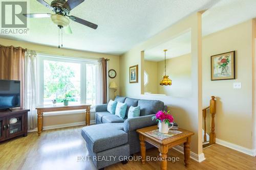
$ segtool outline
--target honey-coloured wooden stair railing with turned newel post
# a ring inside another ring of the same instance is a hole
[[[206,142],[206,110],[209,109],[210,115],[211,115],[211,126],[210,126],[210,140],[209,140],[209,145],[215,143],[215,114],[216,114],[216,99],[215,96],[211,96],[210,100],[210,106],[204,108],[202,110],[203,113],[203,118],[204,118],[204,142]]]

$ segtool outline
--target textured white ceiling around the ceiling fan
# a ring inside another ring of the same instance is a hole
[[[50,0],[46,0],[50,4]],[[136,44],[188,16],[205,10],[218,0],[86,0],[71,11],[98,25],[97,30],[71,21],[72,35],[63,36],[63,47],[120,55]],[[30,0],[30,13],[52,13]],[[0,35],[32,43],[58,45],[58,29],[50,18],[29,19],[29,35]]]

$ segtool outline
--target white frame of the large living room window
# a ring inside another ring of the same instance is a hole
[[[81,104],[86,103],[86,64],[98,64],[98,61],[95,59],[85,59],[79,57],[63,57],[59,55],[50,55],[50,54],[37,54],[37,106],[44,106],[44,60],[50,61],[60,61],[60,62],[72,62],[80,63],[80,101]],[[84,87],[84,88],[82,88]],[[94,108],[94,107],[92,107]],[[56,112],[54,112],[56,114]],[[61,112],[60,112],[61,113]],[[63,112],[64,113],[64,112]],[[70,112],[70,113],[80,113],[80,112]],[[51,114],[51,112],[47,112]]]

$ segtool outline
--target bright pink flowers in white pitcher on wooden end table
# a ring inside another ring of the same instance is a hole
[[[155,116],[152,117],[152,120],[156,119],[159,125],[160,133],[168,133],[169,129],[173,127],[174,117],[169,114],[170,111],[162,111],[159,110]],[[168,125],[172,125],[172,127],[168,127]]]

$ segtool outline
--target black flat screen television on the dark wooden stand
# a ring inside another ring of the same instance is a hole
[[[20,81],[0,80],[0,109],[20,106]]]

